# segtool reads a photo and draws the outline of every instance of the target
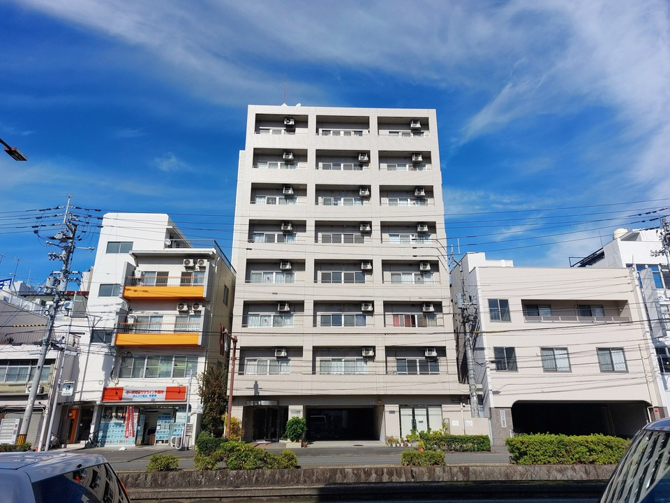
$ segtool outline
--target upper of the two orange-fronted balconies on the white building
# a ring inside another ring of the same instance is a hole
[[[198,271],[196,271],[197,273]],[[204,271],[201,276],[159,276],[126,278],[124,298],[135,299],[198,299],[204,300]]]

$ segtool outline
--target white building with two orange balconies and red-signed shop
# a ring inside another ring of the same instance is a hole
[[[188,442],[201,415],[196,374],[225,361],[234,295],[225,254],[184,238],[168,215],[106,214],[87,288],[94,322],[69,411],[76,438]]]

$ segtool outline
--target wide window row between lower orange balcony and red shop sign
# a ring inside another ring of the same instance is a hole
[[[156,379],[188,377],[197,373],[198,356],[124,356],[119,379]]]

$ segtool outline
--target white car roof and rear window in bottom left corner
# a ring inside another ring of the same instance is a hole
[[[3,503],[130,503],[126,488],[101,455],[0,453]]]

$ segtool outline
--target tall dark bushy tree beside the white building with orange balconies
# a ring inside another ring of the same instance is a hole
[[[228,382],[228,369],[221,362],[210,365],[198,374],[198,395],[202,400],[202,429],[211,432],[214,437],[223,437],[225,423],[222,417],[228,408],[228,394],[225,385]]]

